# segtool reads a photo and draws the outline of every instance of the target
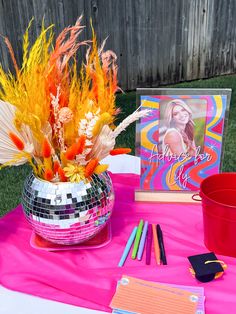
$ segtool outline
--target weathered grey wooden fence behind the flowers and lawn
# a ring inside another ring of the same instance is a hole
[[[0,0],[0,34],[22,58],[22,36],[34,16],[33,40],[42,18],[58,34],[83,13],[99,41],[118,56],[124,90],[236,72],[235,0]],[[12,64],[2,39],[0,62]]]

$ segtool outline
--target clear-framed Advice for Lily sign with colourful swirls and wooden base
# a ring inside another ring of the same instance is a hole
[[[141,159],[137,201],[195,202],[204,178],[221,171],[231,89],[139,88]]]

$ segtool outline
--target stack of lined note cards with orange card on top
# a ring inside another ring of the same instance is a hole
[[[204,290],[122,276],[110,307],[116,314],[200,314],[204,313]]]

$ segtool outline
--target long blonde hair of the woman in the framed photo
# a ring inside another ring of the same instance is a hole
[[[181,99],[173,99],[168,102],[165,110],[165,122],[167,128],[176,127],[173,121],[173,109],[175,106],[181,106],[189,113],[189,121],[185,126],[184,131],[181,132],[184,143],[187,145],[188,150],[194,149],[194,122],[192,120],[192,110],[189,106]]]

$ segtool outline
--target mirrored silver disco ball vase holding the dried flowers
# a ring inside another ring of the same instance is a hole
[[[84,183],[51,183],[29,175],[22,205],[33,230],[44,239],[63,245],[95,236],[106,225],[114,205],[112,181],[107,172]]]

